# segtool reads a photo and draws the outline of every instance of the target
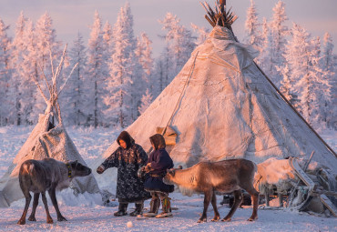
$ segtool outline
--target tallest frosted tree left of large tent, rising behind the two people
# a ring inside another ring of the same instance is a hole
[[[135,73],[136,40],[133,33],[133,16],[130,5],[121,7],[113,28],[114,53],[109,66],[110,78],[107,80],[108,95],[105,97],[108,122],[124,128],[133,119],[132,82]]]

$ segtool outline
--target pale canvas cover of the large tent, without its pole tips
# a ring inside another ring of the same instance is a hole
[[[128,133],[148,151],[156,128],[171,126],[178,134],[176,145],[168,147],[176,166],[230,158],[256,163],[272,156],[308,158],[314,150],[313,159],[333,170],[336,156],[263,76],[253,62],[256,55],[216,25]],[[109,146],[93,167],[117,146]],[[106,177],[97,180],[104,183]]]

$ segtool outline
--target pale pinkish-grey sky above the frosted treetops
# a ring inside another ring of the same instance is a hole
[[[191,29],[190,24],[211,26],[204,19],[205,11],[199,4],[199,0],[128,0],[131,12],[134,16],[135,35],[141,32],[148,34],[153,41],[154,55],[158,56],[164,45],[158,38],[162,34],[158,19],[163,19],[170,12],[180,18],[182,25]],[[214,0],[207,1],[214,6]],[[278,0],[255,0],[262,17],[271,18],[272,7]],[[337,0],[283,0],[286,5],[286,14],[289,17],[288,25],[295,22],[304,27],[312,36],[322,36],[325,32],[332,35],[334,52],[337,53]],[[80,32],[86,41],[89,38],[89,25],[93,24],[95,10],[98,11],[103,25],[108,21],[114,25],[117,14],[126,0],[0,0],[0,18],[5,25],[10,25],[9,34],[14,35],[15,22],[21,11],[34,22],[45,12],[53,19],[57,39],[72,45]],[[234,23],[235,35],[242,40],[244,35],[244,22],[246,12],[250,6],[250,0],[228,0],[228,7],[239,16]]]

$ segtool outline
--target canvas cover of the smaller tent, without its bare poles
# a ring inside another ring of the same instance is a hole
[[[47,130],[51,114],[40,115],[36,127],[15,156],[4,177],[0,179],[0,207],[9,207],[15,200],[24,197],[18,174],[21,164],[27,159],[41,160],[45,157],[53,157],[63,162],[78,160],[79,163],[86,165],[62,124]],[[74,194],[86,191],[88,193],[99,192],[97,181],[92,174],[87,177],[74,178],[70,187],[74,190]]]

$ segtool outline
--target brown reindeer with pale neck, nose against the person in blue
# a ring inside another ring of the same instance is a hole
[[[170,169],[164,177],[164,183],[203,193],[204,210],[198,222],[207,221],[207,209],[211,202],[214,209],[212,221],[219,221],[216,192],[234,194],[234,204],[222,221],[230,221],[243,197],[241,189],[246,190],[253,199],[253,212],[250,221],[258,218],[259,192],[253,187],[256,165],[247,159],[230,159],[219,162],[200,162],[187,169]]]

